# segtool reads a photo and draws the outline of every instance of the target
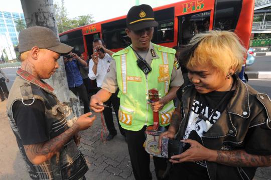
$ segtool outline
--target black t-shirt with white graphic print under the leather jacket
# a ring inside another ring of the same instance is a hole
[[[230,98],[232,97],[233,92],[234,91],[213,91],[207,94],[198,93],[190,110],[188,124],[183,139],[189,138],[202,144],[202,135],[207,132],[219,119],[221,113],[224,111]],[[223,102],[220,103],[221,100]],[[200,118],[200,113],[207,117],[208,120],[204,120],[207,118]],[[185,162],[182,163],[182,166],[188,171],[189,169],[193,169],[192,174],[194,177],[189,176],[190,179],[197,179],[199,176],[201,179],[205,179],[205,177],[206,179],[209,179],[205,161]]]

